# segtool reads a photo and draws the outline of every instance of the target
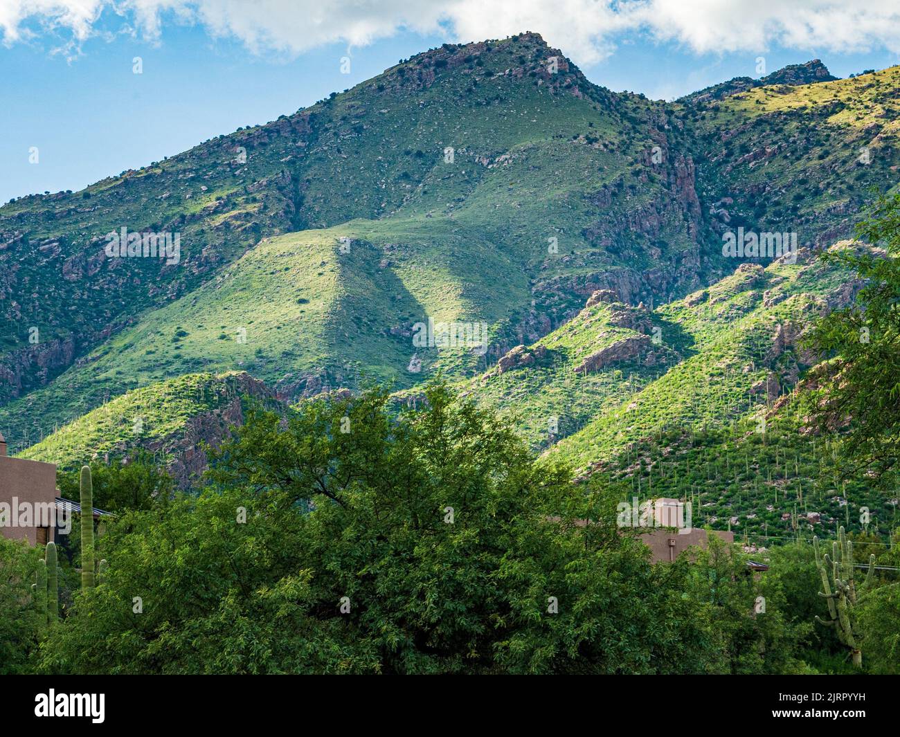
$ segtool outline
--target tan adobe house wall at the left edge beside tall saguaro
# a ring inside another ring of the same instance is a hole
[[[11,458],[0,433],[0,535],[44,545],[58,539],[56,465]]]

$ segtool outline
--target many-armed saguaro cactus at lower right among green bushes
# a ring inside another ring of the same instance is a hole
[[[841,527],[838,530],[838,539],[832,544],[832,555],[825,553],[823,556],[819,554],[819,538],[813,538],[813,547],[815,548],[815,566],[819,569],[819,575],[822,576],[822,588],[819,592],[820,597],[824,597],[828,601],[828,614],[831,621],[825,622],[819,616],[815,617],[815,621],[820,625],[835,627],[838,631],[838,638],[848,648],[853,658],[853,665],[856,668],[862,668],[862,652],[856,643],[856,635],[853,634],[854,608],[856,607],[856,582],[853,580],[853,544],[844,534]],[[866,573],[866,579],[860,584],[860,591],[869,586],[872,580],[872,571],[875,570],[875,556],[869,556],[869,571]]]

